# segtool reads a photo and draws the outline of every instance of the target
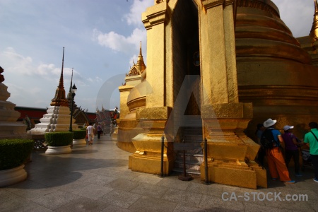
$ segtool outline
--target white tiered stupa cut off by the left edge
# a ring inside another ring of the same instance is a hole
[[[14,110],[15,104],[7,101],[10,93],[7,91],[8,87],[2,83],[2,72],[4,69],[0,67],[0,139],[24,139],[27,136],[27,126],[22,122],[16,122],[20,112]]]

